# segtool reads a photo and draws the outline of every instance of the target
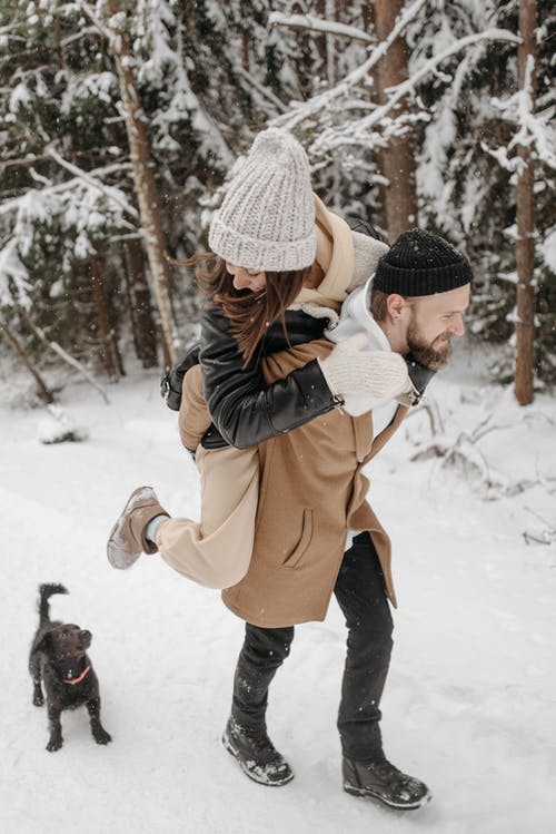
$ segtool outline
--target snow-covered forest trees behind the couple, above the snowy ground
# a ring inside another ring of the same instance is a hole
[[[556,379],[555,20],[550,0],[0,0],[0,351],[47,401],[63,361],[111,382],[133,352],[176,361],[199,298],[165,252],[206,249],[275,124],[351,224],[468,255],[470,337],[530,402]]]

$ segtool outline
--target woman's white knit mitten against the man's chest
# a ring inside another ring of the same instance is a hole
[[[366,336],[359,333],[319,360],[328,387],[341,396],[344,409],[351,416],[384,405],[413,387],[399,353],[366,351]]]

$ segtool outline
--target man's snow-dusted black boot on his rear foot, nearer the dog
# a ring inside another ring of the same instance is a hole
[[[261,785],[285,785],[294,778],[290,766],[264,729],[250,733],[230,717],[222,744],[237,758],[244,773]]]

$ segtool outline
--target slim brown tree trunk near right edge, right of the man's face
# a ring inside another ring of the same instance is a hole
[[[528,100],[527,109],[535,109],[536,96],[536,0],[519,0],[518,86]],[[535,199],[534,163],[529,147],[518,148],[520,167],[517,171],[517,320],[514,393],[520,405],[533,402],[535,346]]]

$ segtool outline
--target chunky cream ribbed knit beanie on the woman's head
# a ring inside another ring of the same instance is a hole
[[[270,127],[215,212],[209,246],[247,269],[287,272],[310,266],[317,246],[309,160],[291,134]]]

